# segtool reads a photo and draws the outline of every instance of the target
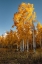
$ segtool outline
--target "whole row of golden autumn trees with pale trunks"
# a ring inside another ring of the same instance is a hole
[[[21,3],[13,17],[16,30],[0,36],[0,47],[17,47],[17,50],[42,48],[42,24],[37,21],[33,4]],[[35,23],[37,22],[37,25]]]

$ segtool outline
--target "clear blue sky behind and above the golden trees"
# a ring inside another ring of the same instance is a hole
[[[15,30],[11,28],[13,16],[22,2],[34,4],[37,20],[42,23],[42,0],[0,0],[0,35],[10,29]]]

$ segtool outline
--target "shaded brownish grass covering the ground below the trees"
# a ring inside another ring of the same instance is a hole
[[[0,64],[42,64],[42,49],[37,49],[34,53],[0,48]]]

